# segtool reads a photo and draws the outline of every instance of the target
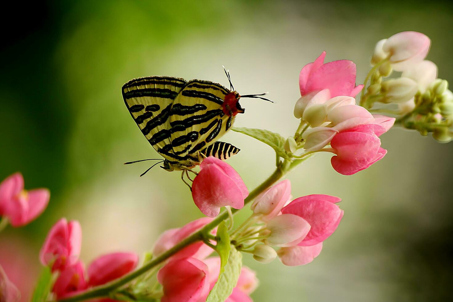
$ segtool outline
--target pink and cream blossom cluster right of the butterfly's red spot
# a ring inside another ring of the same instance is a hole
[[[302,97],[294,106],[294,116],[301,122],[296,135],[287,140],[287,151],[332,152],[336,155],[333,168],[351,175],[386,155],[379,136],[393,126],[395,118],[373,116],[356,105],[354,97],[363,88],[355,86],[356,65],[349,60],[323,63],[325,55],[300,72]]]

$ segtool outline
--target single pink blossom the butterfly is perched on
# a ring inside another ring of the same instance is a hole
[[[213,156],[202,161],[193,180],[192,197],[203,214],[216,217],[226,205],[242,209],[248,195],[241,176],[230,165]]]

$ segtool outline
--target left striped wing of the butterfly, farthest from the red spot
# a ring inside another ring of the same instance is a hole
[[[153,76],[132,79],[121,89],[126,107],[143,135],[169,160],[174,160],[171,152],[163,149],[171,146],[170,110],[186,84],[182,78]]]

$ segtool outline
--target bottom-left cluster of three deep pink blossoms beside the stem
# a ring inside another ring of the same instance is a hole
[[[81,247],[80,224],[62,218],[50,229],[41,248],[41,263],[58,273],[52,287],[58,299],[120,278],[134,270],[138,263],[135,253],[110,253],[93,260],[85,272],[85,266],[79,259]]]

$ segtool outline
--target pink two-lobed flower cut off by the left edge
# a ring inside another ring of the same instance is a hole
[[[0,184],[0,216],[14,227],[28,224],[44,211],[49,198],[47,189],[24,190],[22,174],[15,173]]]

